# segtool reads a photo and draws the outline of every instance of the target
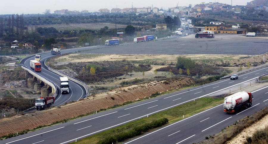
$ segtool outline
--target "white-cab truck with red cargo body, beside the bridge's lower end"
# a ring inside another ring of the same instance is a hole
[[[54,104],[54,102],[55,102],[54,96],[50,96],[46,98],[40,97],[40,98],[35,99],[35,108],[36,110],[45,109],[47,107],[51,107],[52,104]]]

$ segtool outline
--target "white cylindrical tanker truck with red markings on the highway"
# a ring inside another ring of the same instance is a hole
[[[224,98],[224,112],[239,112],[242,108],[248,108],[252,104],[252,94],[250,92],[238,92]]]

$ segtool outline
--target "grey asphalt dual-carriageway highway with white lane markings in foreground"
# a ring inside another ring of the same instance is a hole
[[[234,86],[239,86],[244,82],[253,82],[259,75],[267,71],[268,68],[261,68],[242,74],[237,80],[223,79],[210,84],[204,84],[202,86],[177,91],[175,93],[170,93],[146,101],[141,101],[135,104],[111,109],[66,123],[61,123],[28,134],[12,137],[7,140],[2,140],[1,143],[69,143],[71,141],[75,141],[76,139],[96,134],[132,120],[147,117],[147,115],[149,116],[153,113],[175,107],[197,98],[208,95],[211,96],[216,92],[226,90]],[[177,143],[193,135],[193,139],[188,138],[187,140],[198,142],[203,140],[205,136],[213,135],[216,132],[219,132],[225,126],[234,123],[235,120],[239,120],[247,115],[253,114],[255,111],[265,107],[265,103],[261,103],[261,101],[264,101],[268,98],[267,94],[264,93],[267,93],[267,88],[253,92],[254,100],[252,107],[246,112],[240,113],[239,115],[229,115],[224,113],[221,105],[215,107],[214,109],[202,112],[202,114],[200,113],[199,115],[184,119],[179,123],[175,123],[163,130],[149,134],[148,136],[135,140],[132,143]],[[227,118],[229,119],[225,120]],[[201,120],[204,120],[202,121],[202,124],[198,123]],[[228,123],[222,122],[213,126],[222,120],[225,120],[224,122]],[[209,128],[210,126],[213,126],[213,128]],[[175,131],[181,132],[176,133],[179,136],[173,134],[167,137],[168,135],[175,133]],[[161,138],[159,135],[161,135]],[[183,143],[190,143],[190,141],[187,140],[183,141]]]

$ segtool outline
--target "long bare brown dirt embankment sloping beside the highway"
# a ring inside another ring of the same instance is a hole
[[[11,120],[2,119],[0,122],[0,136],[23,131],[25,129],[33,129],[38,126],[74,118],[79,115],[89,114],[99,109],[112,107],[115,104],[138,100],[156,92],[161,93],[193,83],[194,81],[191,78],[180,77],[179,79],[171,79],[164,82],[156,81],[148,84],[121,87],[119,90],[115,89],[108,93],[97,94],[94,98],[88,97],[65,106],[36,111],[35,113],[21,115],[20,117]]]

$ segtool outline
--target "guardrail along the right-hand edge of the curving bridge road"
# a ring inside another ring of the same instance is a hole
[[[46,63],[46,60],[45,60],[44,64],[45,64],[45,63]],[[65,74],[65,73],[62,73],[62,72],[60,72],[60,71],[58,71],[58,70],[55,70],[54,68],[51,68],[51,67],[47,66],[46,64],[45,64],[45,66],[49,69],[49,71],[52,71],[52,72],[54,72],[54,73],[57,73],[58,75],[63,76],[63,77],[64,77],[64,76],[67,76],[68,79],[70,79],[71,81],[74,81],[74,82],[76,82],[76,83],[82,85],[82,86],[85,88],[86,92],[87,92],[87,93],[85,94],[85,96],[83,96],[82,98],[86,98],[86,97],[88,97],[89,90],[88,90],[88,86],[87,86],[87,84],[85,84],[85,82],[83,82],[83,81],[81,81],[81,80],[79,80],[79,79],[76,79],[76,78],[74,78],[74,77],[72,77],[72,76],[69,76],[69,75],[67,75],[67,74]]]

